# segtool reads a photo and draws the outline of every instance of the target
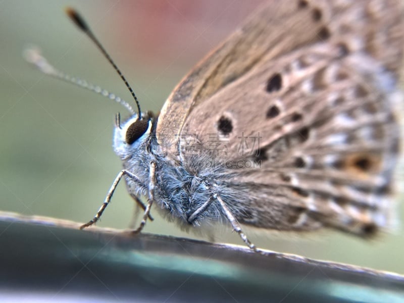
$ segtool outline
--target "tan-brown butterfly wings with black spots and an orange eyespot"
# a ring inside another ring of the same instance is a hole
[[[226,201],[240,222],[372,234],[389,219],[398,153],[401,5],[282,3],[270,2],[196,67],[160,119],[181,113],[169,135],[180,138],[188,167],[200,150],[230,164],[226,186],[249,191],[244,202]]]

